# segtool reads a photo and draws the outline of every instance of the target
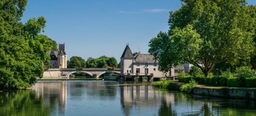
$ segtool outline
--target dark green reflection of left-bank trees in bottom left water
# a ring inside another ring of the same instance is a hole
[[[0,116],[47,116],[51,113],[43,97],[30,90],[2,91],[0,101]]]

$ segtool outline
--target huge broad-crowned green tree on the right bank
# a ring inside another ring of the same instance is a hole
[[[182,7],[170,12],[168,33],[149,42],[162,71],[190,63],[208,77],[216,64],[250,61],[256,22],[245,0],[181,1]]]

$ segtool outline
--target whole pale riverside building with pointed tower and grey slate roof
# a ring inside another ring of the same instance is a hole
[[[131,75],[135,75],[136,73],[147,73],[150,75],[154,73],[153,77],[174,76],[174,68],[171,69],[171,74],[165,74],[159,71],[158,61],[155,61],[150,54],[139,53],[133,56],[129,45],[126,45],[124,49],[120,65],[121,73],[131,73]]]

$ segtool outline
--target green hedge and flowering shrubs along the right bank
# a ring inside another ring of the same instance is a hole
[[[229,69],[228,69],[229,70]],[[191,79],[202,85],[212,86],[228,86],[228,87],[256,87],[255,71],[251,67],[237,68],[237,74],[230,71],[224,71],[220,76],[204,77],[204,76],[183,76],[179,78],[179,82],[188,83]]]

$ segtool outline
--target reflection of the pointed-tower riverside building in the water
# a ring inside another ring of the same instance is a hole
[[[120,100],[124,115],[129,115],[133,106],[140,108],[155,107],[162,104],[174,104],[174,94],[165,94],[154,90],[152,86],[121,86]],[[159,100],[161,99],[161,100]]]

